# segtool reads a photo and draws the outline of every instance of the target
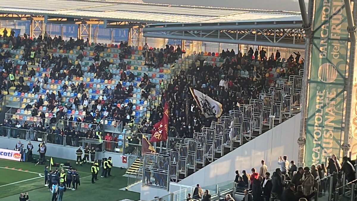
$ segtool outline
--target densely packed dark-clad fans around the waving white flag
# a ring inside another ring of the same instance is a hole
[[[220,54],[223,62],[209,62],[200,55],[187,71],[181,72],[172,79],[165,91],[165,101],[169,102],[169,136],[176,138],[192,138],[194,132],[200,132],[202,126],[210,127],[216,118],[205,118],[190,93],[190,87],[207,94],[222,104],[223,113],[238,109],[240,104],[249,104],[260,93],[268,92],[270,87],[278,84],[275,78],[287,79],[290,75],[298,75],[304,62],[300,53],[295,53],[285,60],[277,50],[267,58],[265,50],[252,48],[247,53],[234,50]],[[198,64],[199,62],[199,64]],[[280,65],[278,65],[280,64]],[[276,73],[272,78],[270,73]],[[141,123],[141,131],[150,133],[152,125],[162,117],[162,104],[150,110],[150,119]],[[171,143],[171,142],[170,142]],[[172,145],[174,147],[174,142]]]

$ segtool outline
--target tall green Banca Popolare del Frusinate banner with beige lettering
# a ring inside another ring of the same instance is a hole
[[[305,165],[340,156],[348,31],[343,0],[316,0]]]

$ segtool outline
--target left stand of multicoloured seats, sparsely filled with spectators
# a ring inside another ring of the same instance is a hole
[[[97,132],[99,125],[121,133],[149,118],[150,104],[155,104],[160,85],[171,78],[171,69],[181,57],[180,48],[173,46],[64,41],[47,33],[37,39],[11,34],[1,43],[5,104],[18,108],[7,112],[3,126],[12,137],[22,139],[24,134],[15,129],[30,129],[34,140],[53,133],[47,141],[57,144],[63,144],[66,135],[69,146],[77,146],[84,137],[117,141],[123,136],[106,137],[106,132]],[[9,73],[16,85],[6,80]],[[114,147],[106,149],[114,151]]]

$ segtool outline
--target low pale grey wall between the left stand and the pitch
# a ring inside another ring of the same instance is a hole
[[[28,143],[26,140],[22,140],[22,139],[0,137],[0,148],[14,149],[18,141],[21,141],[21,143],[24,144],[24,147],[26,147],[26,144]],[[34,150],[32,151],[32,153],[38,154],[37,149],[40,142],[31,141],[31,143],[34,145]],[[59,144],[50,144],[50,143],[47,143],[46,146],[47,146],[46,156],[48,157],[64,158],[67,160],[74,160],[74,161],[76,160],[76,150],[78,149],[77,147],[69,147],[69,146],[65,147]],[[83,156],[84,155],[82,155],[82,157]],[[127,163],[122,162],[123,155],[119,153],[96,152],[95,159],[108,158],[110,156],[112,157],[114,167],[127,168]],[[129,155],[124,155],[124,156],[129,157]],[[54,163],[56,163],[56,161],[54,161]]]

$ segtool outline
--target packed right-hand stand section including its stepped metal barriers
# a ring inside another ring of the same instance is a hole
[[[165,91],[171,108],[169,142],[161,153],[145,155],[144,166],[160,162],[144,168],[144,185],[165,189],[166,181],[182,180],[300,111],[300,53],[295,59],[281,59],[278,52],[267,58],[263,49],[255,57],[253,50],[199,54],[197,64],[176,75]],[[190,87],[222,103],[222,116],[205,118]],[[150,131],[162,111],[156,107],[141,131]]]

